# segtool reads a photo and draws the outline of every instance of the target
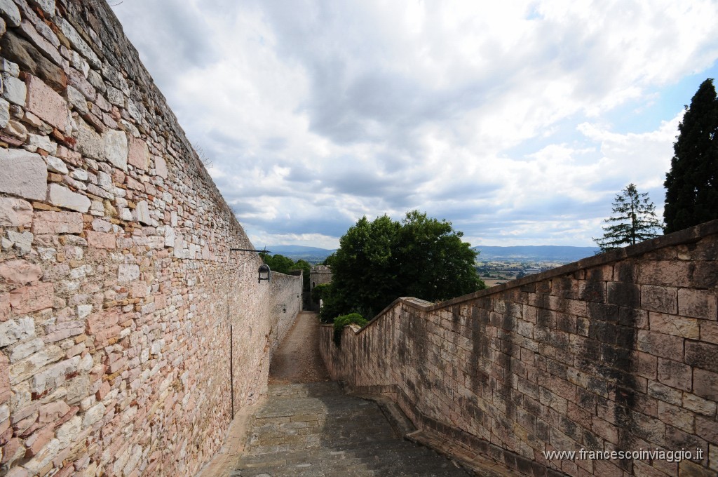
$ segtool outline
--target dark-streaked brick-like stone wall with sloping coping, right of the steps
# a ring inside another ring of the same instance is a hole
[[[386,392],[454,448],[534,476],[716,476],[718,221],[438,305],[400,299],[333,379]],[[552,459],[690,450],[700,458]]]

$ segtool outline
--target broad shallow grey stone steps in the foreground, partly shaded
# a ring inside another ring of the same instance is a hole
[[[345,394],[336,382],[270,385],[247,435],[230,476],[470,475],[396,435],[376,402]]]

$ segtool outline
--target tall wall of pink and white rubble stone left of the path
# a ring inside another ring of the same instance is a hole
[[[301,277],[230,251],[253,246],[106,3],[0,0],[0,73],[0,474],[193,475]]]

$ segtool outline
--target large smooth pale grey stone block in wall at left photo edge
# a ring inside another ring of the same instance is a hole
[[[22,149],[0,149],[0,192],[26,199],[45,200],[47,165],[39,154]]]

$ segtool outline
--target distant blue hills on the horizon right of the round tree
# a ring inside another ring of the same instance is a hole
[[[598,251],[595,247],[573,247],[556,245],[524,245],[524,246],[475,246],[479,251],[479,260],[508,261],[556,261],[571,263],[593,256]]]

